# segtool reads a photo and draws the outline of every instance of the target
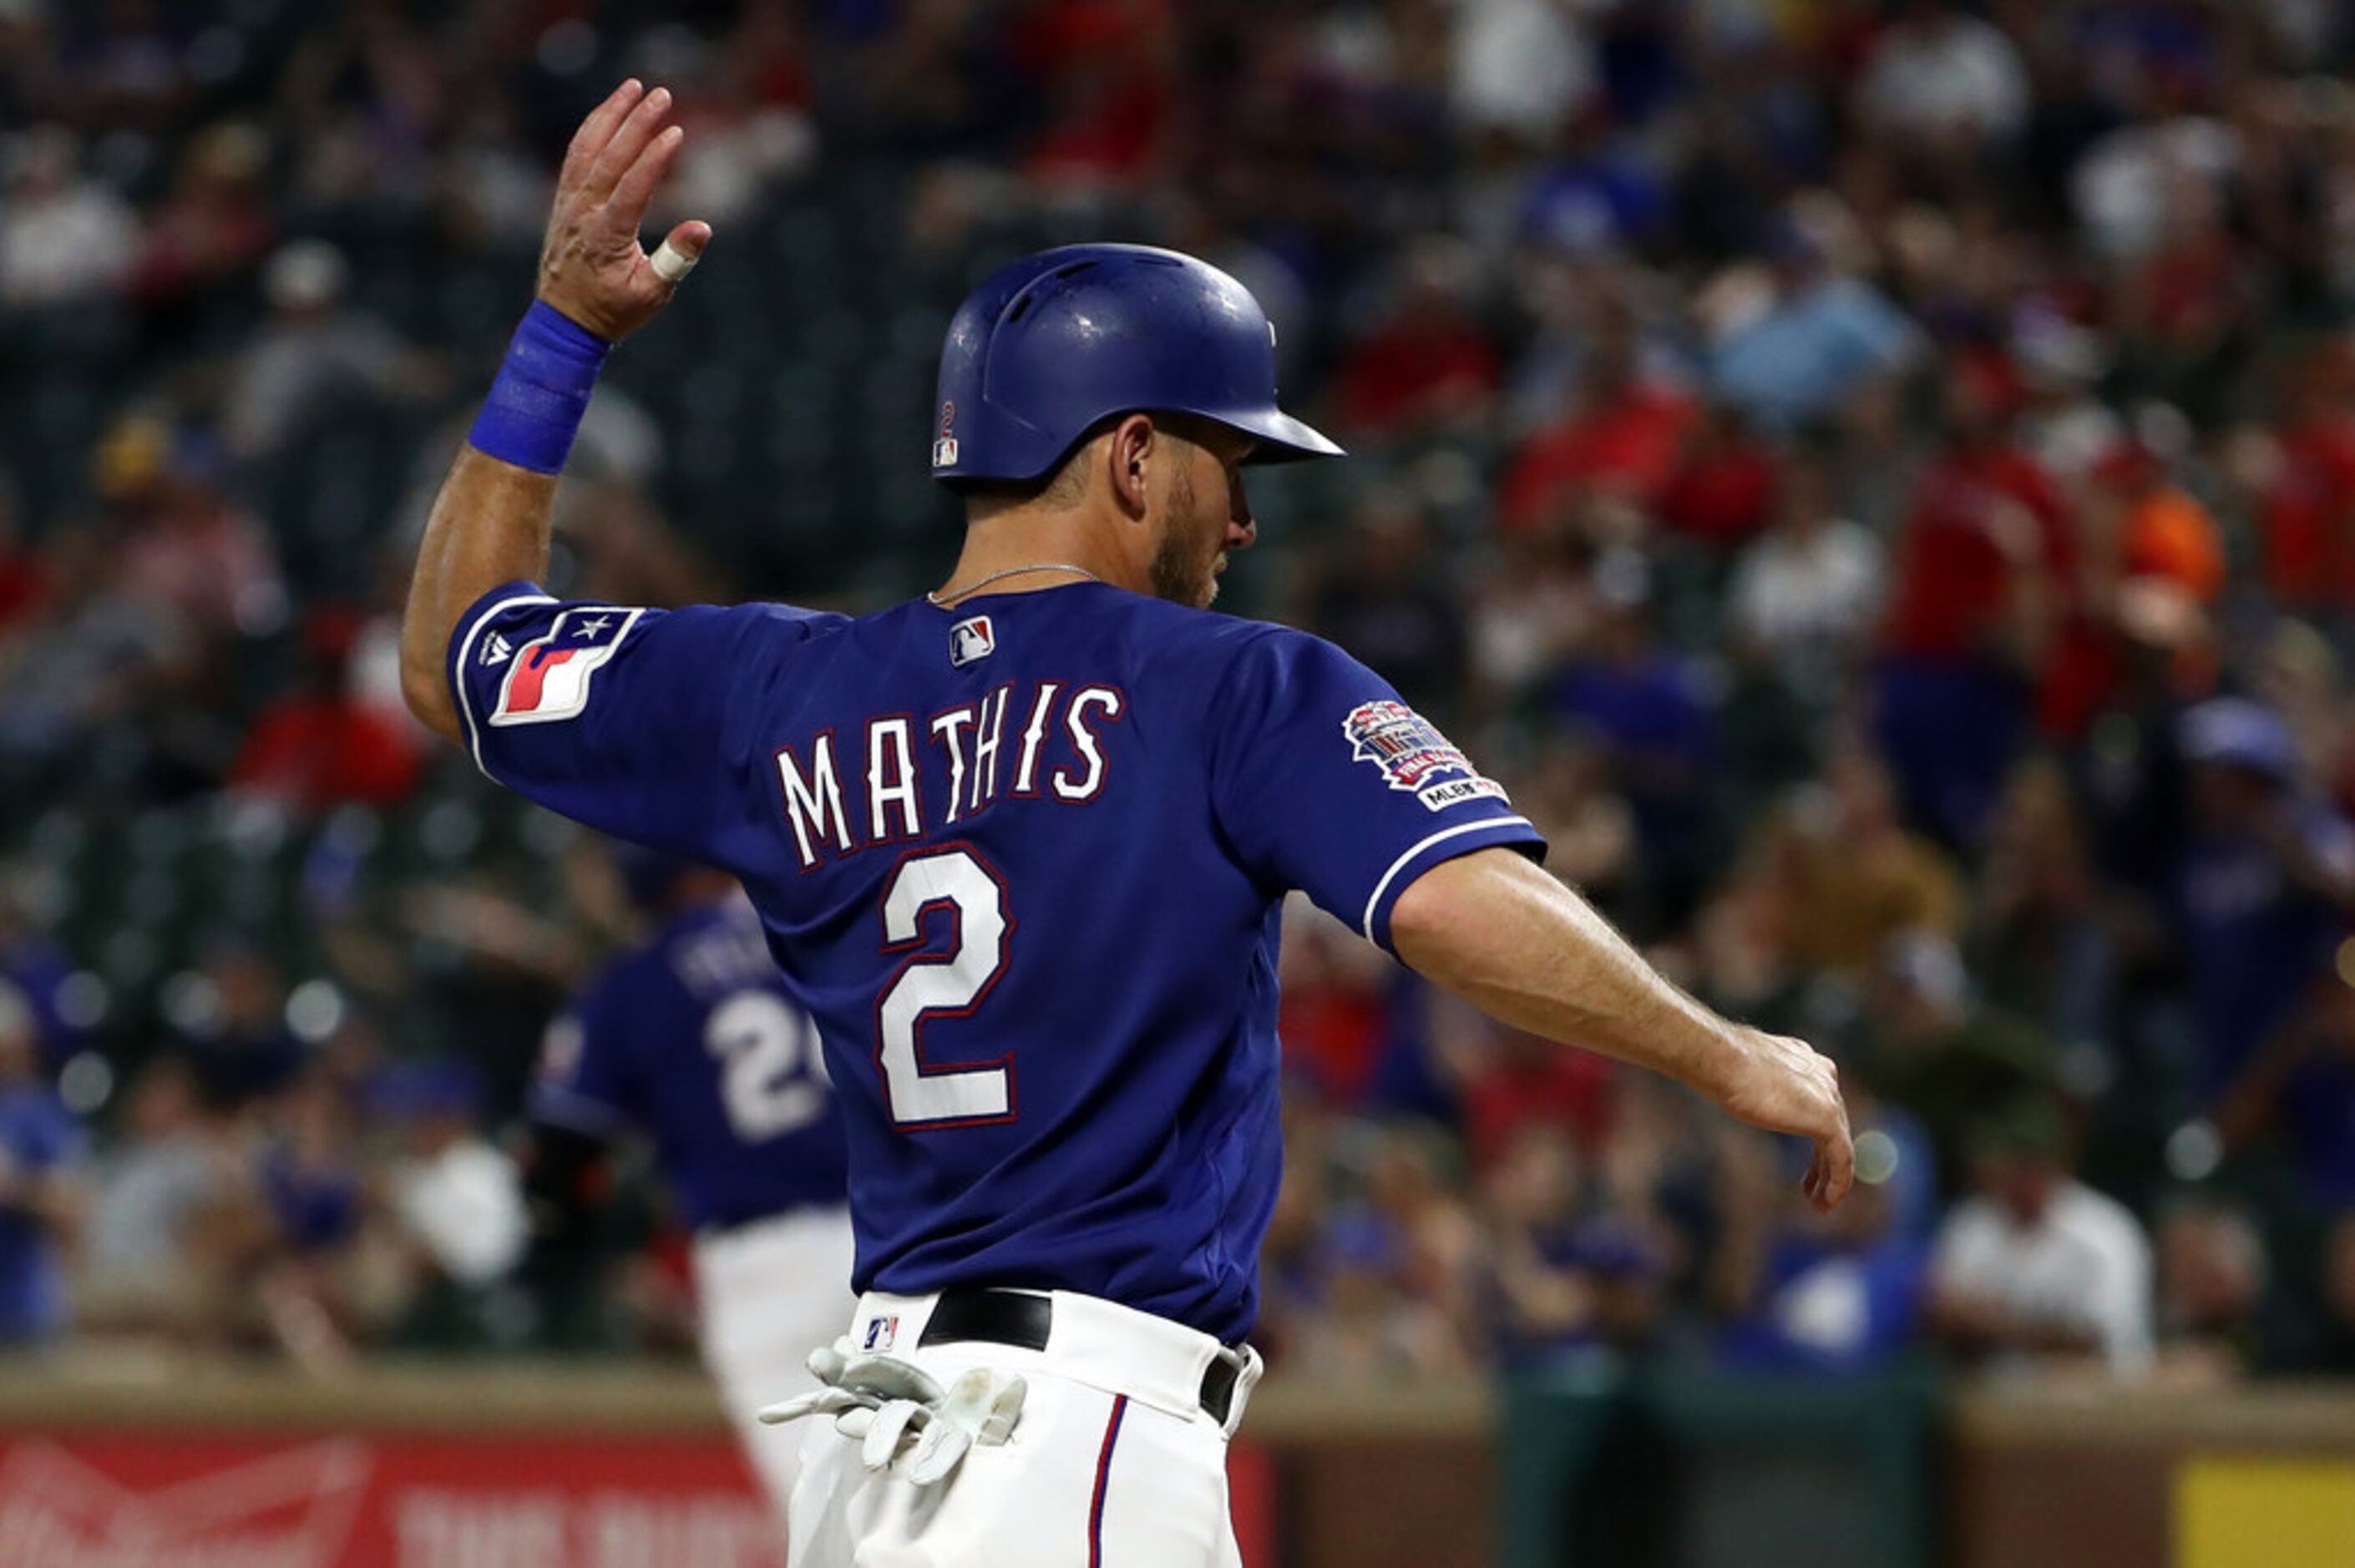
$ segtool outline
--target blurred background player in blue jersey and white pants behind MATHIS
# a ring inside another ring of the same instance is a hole
[[[704,1366],[784,1514],[798,1434],[756,1415],[810,1382],[810,1344],[850,1311],[841,1109],[735,878],[643,850],[622,855],[622,876],[655,928],[549,1026],[530,1104],[535,1210],[577,1220],[610,1144],[652,1140],[695,1229]]]

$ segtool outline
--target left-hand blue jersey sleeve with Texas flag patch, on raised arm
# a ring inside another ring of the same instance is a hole
[[[497,784],[617,838],[725,864],[754,763],[744,716],[841,617],[784,605],[641,610],[492,589],[450,636],[466,749]]]

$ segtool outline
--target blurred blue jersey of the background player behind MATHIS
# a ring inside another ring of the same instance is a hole
[[[685,909],[605,965],[549,1026],[530,1111],[650,1135],[695,1227],[841,1208],[848,1189],[817,1029],[742,899]]]

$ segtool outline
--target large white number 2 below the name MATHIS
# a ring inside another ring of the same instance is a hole
[[[966,1017],[1006,968],[1006,885],[970,850],[911,855],[883,890],[883,951],[923,939],[923,911],[956,911],[956,949],[909,958],[876,1003],[876,1059],[893,1123],[942,1128],[1006,1121],[1013,1114],[1013,1071],[1001,1057],[989,1067],[926,1071],[916,1034],[928,1017]]]

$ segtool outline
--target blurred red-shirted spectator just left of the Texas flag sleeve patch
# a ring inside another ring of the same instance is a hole
[[[313,610],[304,622],[304,683],[261,711],[231,770],[231,786],[327,810],[358,800],[393,805],[424,768],[417,730],[360,704],[346,678],[360,617]]]

